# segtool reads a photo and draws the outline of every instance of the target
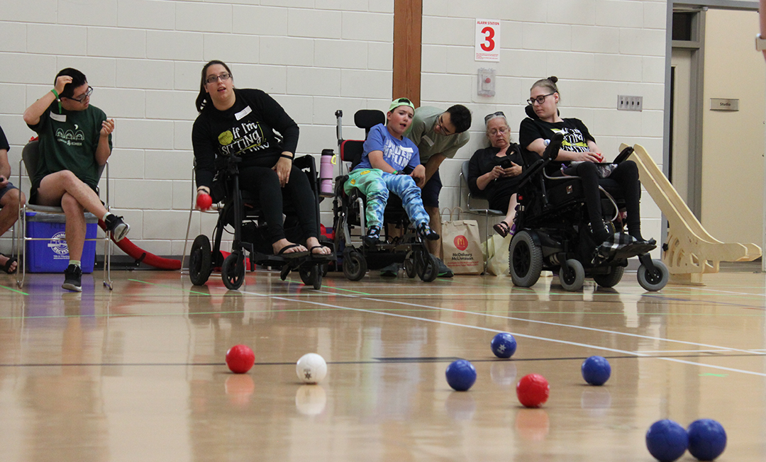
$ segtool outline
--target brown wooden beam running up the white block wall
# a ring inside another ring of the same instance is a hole
[[[423,0],[394,0],[394,78],[391,99],[421,106]]]

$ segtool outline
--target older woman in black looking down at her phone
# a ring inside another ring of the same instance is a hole
[[[468,187],[474,193],[484,191],[489,208],[501,210],[506,217],[493,228],[502,237],[513,236],[516,218],[516,191],[522,174],[519,145],[511,142],[511,128],[502,112],[484,118],[489,147],[473,153],[468,163]]]

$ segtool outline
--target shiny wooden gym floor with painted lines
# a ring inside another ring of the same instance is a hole
[[[314,291],[259,270],[241,291],[152,271],[113,272],[109,291],[96,272],[74,294],[62,275],[21,290],[3,275],[0,459],[643,462],[653,421],[714,418],[719,460],[766,460],[766,285],[741,268],[656,293],[631,272],[577,293],[401,273]],[[500,331],[512,360],[489,350]],[[224,364],[237,343],[256,354],[246,375]],[[309,352],[329,363],[319,386],[296,377]],[[605,386],[581,378],[591,355],[611,363]],[[468,392],[444,379],[457,358],[476,366]],[[516,399],[529,373],[551,384],[539,409]]]

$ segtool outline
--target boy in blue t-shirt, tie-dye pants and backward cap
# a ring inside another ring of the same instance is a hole
[[[374,245],[380,239],[388,191],[401,197],[404,210],[421,238],[439,239],[439,235],[428,226],[430,218],[421,200],[425,168],[421,165],[417,146],[404,137],[404,132],[412,123],[414,111],[415,107],[407,98],[391,102],[386,114],[388,123],[370,129],[362,161],[352,170],[349,181],[344,185],[346,194],[356,188],[367,197],[365,220],[368,233],[365,242],[368,245]],[[406,168],[412,169],[410,174],[403,174]]]

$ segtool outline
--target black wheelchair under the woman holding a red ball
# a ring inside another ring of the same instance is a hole
[[[220,267],[221,278],[226,288],[237,290],[244,283],[245,252],[247,252],[250,258],[250,272],[255,271],[256,264],[280,268],[280,278],[284,281],[290,272],[297,271],[304,284],[318,290],[322,287],[322,276],[326,275],[329,260],[335,258],[334,252],[331,255],[321,256],[273,255],[270,242],[264,237],[266,223],[261,216],[257,197],[239,187],[241,161],[242,159],[238,156],[230,156],[223,158],[219,166],[211,195],[215,203],[222,203],[222,207],[218,207],[218,223],[213,232],[212,248],[210,239],[205,234],[197,236],[191,245],[189,276],[192,284],[204,285],[213,269]],[[309,177],[313,200],[316,201],[316,223],[319,223],[319,186],[314,158],[305,155],[296,158],[294,164]],[[289,202],[284,203],[284,214],[286,215],[284,222],[286,237],[296,242],[297,239],[291,235],[290,230],[297,228],[297,217],[291,210]],[[227,226],[234,229],[234,239],[231,243],[231,254],[224,258],[221,253],[221,239]],[[322,245],[332,249],[332,244],[329,242],[322,242]]]

